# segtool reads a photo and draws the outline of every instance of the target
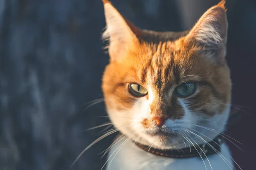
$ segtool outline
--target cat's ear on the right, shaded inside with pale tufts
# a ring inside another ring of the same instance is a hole
[[[185,41],[199,44],[209,52],[224,51],[222,56],[225,56],[227,27],[225,0],[222,0],[202,15],[185,37]]]

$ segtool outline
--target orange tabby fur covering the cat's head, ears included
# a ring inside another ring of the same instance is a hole
[[[109,1],[103,0],[103,3]],[[197,92],[184,99],[193,113],[214,116],[227,109],[231,80],[224,58],[227,36],[224,5],[222,0],[210,8],[191,31],[180,33],[140,30],[125,18],[120,19],[125,23],[123,30],[117,30],[120,35],[110,30],[105,36],[110,37],[111,60],[103,75],[102,90],[108,110],[131,110],[139,99],[129,93],[128,84],[136,83],[152,90],[151,117],[181,119],[185,109],[174,89],[184,82],[198,84]],[[107,25],[111,24],[111,18],[106,19]],[[204,34],[205,31],[209,34]],[[216,31],[216,35],[212,31]],[[207,37],[211,34],[215,37]],[[148,128],[155,125],[152,122],[143,119],[141,123]]]

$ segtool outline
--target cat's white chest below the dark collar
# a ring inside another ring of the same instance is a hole
[[[233,161],[226,144],[222,144],[221,154],[223,156],[208,156],[209,161],[202,161],[200,157],[173,159],[147,153],[132,141],[124,145],[119,142],[108,153],[106,167],[108,170],[233,170]]]

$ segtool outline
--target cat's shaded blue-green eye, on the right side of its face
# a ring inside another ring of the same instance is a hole
[[[180,97],[187,97],[195,93],[196,83],[189,82],[179,85],[176,89],[176,94]]]

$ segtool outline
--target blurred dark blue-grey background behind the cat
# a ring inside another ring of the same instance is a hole
[[[183,31],[219,0],[112,0],[140,28]],[[256,1],[227,0],[227,61],[233,104],[240,111],[227,134],[233,158],[255,169]],[[68,170],[109,122],[101,78],[108,55],[101,42],[101,0],[0,0],[0,170]],[[99,99],[99,100],[95,100]],[[91,106],[91,107],[88,107]],[[72,170],[99,170],[108,136]],[[239,168],[237,168],[239,169]]]

